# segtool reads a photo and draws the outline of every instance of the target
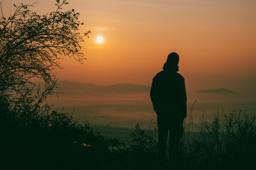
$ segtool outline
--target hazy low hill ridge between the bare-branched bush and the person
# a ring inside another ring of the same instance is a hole
[[[114,84],[101,86],[76,81],[58,81],[59,89],[65,96],[82,96],[87,94],[145,94],[150,87],[138,84]]]

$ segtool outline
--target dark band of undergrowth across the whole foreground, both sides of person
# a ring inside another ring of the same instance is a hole
[[[1,101],[1,167],[54,169],[170,169],[156,156],[156,137],[139,125],[131,142],[104,137],[89,123],[67,113],[33,116],[11,111]],[[256,167],[256,119],[241,111],[215,114],[201,127],[186,124],[176,169],[252,169]],[[188,115],[188,121],[191,121]],[[196,132],[192,132],[195,130]],[[167,157],[166,157],[167,158]],[[15,162],[15,164],[14,164]]]

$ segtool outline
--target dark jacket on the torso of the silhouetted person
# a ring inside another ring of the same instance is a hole
[[[156,74],[150,91],[154,111],[158,117],[186,118],[186,88],[181,74],[163,70]]]

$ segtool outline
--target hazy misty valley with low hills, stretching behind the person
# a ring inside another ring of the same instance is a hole
[[[76,81],[58,81],[60,94],[48,98],[58,111],[73,114],[81,123],[134,128],[139,123],[144,128],[156,125],[156,113],[151,104],[150,86],[138,84],[114,84],[102,86]],[[202,114],[210,120],[213,113],[242,109],[247,113],[256,111],[253,94],[238,93],[229,89],[187,91],[188,114],[193,108],[193,122],[199,123]]]

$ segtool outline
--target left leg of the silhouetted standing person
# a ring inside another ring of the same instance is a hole
[[[158,154],[164,156],[166,152],[166,140],[168,135],[168,125],[166,119],[157,118],[157,125],[159,130],[159,141],[158,141]]]

